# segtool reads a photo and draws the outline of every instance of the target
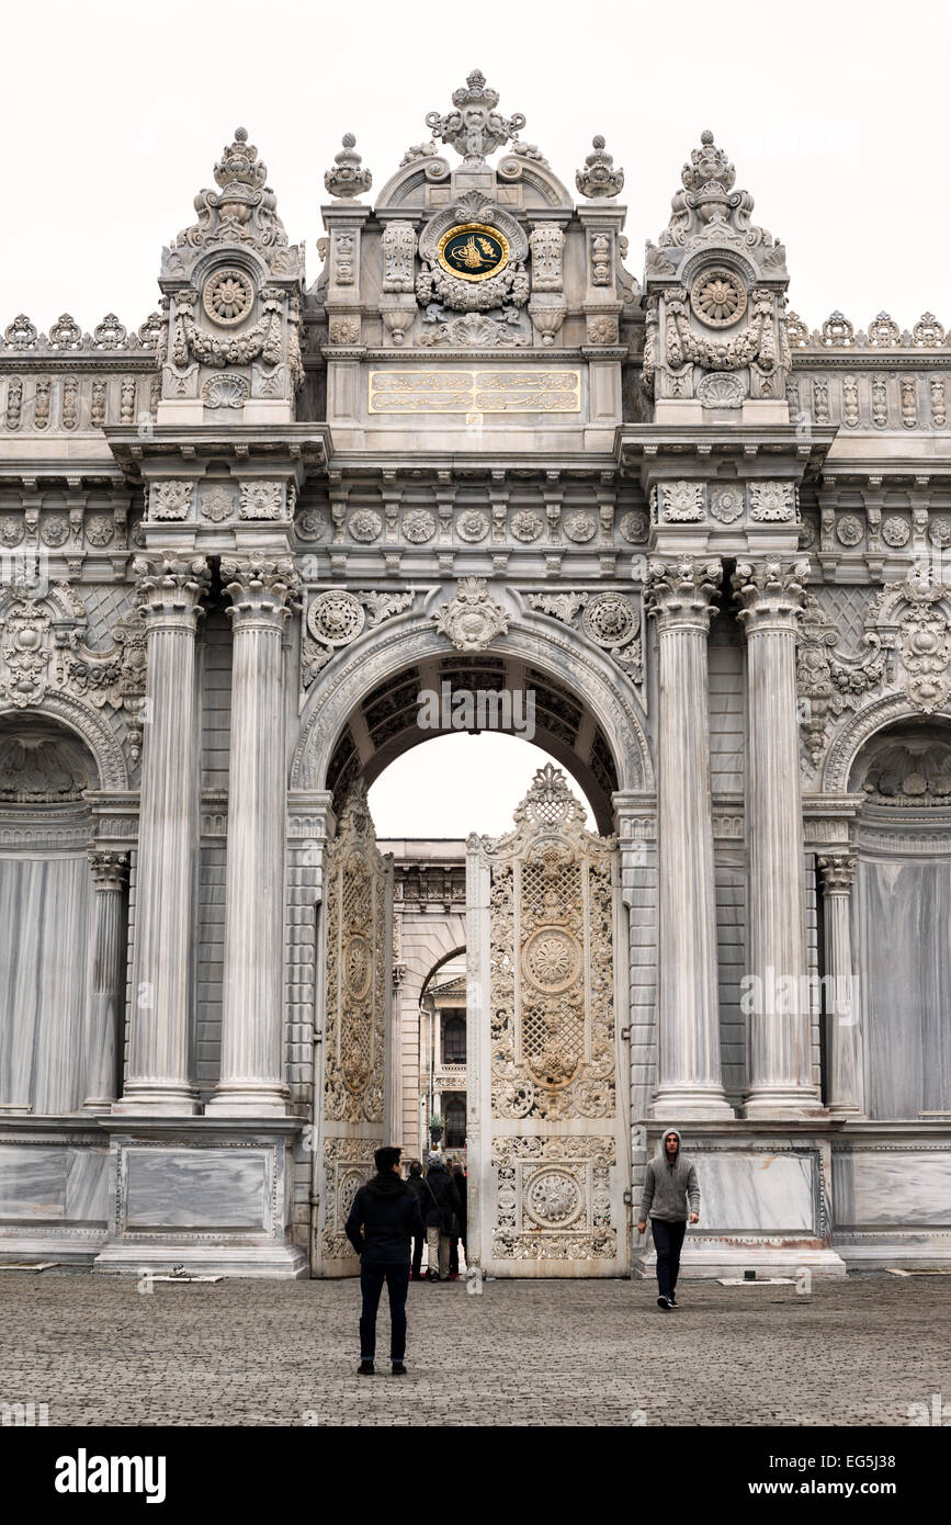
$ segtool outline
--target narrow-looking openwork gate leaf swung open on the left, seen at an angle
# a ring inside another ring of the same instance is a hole
[[[376,848],[366,790],[355,784],[325,857],[325,1023],[320,1096],[319,1264],[357,1275],[343,1232],[389,1121],[392,859]]]

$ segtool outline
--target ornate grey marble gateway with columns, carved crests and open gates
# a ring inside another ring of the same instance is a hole
[[[236,128],[140,323],[0,323],[0,1258],[355,1270],[428,938],[477,1267],[645,1269],[668,1122],[689,1269],[946,1264],[948,314],[791,313],[712,131],[634,270],[639,124],[422,116],[315,259]],[[395,904],[421,694],[552,764]]]

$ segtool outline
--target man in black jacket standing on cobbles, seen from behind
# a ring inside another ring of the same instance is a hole
[[[422,1237],[419,1200],[399,1174],[399,1150],[378,1148],[376,1174],[354,1197],[346,1237],[360,1255],[360,1377],[372,1377],[376,1356],[376,1308],[386,1281],[390,1295],[390,1360],[405,1377],[405,1299],[410,1286],[410,1240]],[[363,1232],[361,1232],[363,1229]]]

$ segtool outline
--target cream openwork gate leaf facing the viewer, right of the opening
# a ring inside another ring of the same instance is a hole
[[[491,1275],[626,1270],[617,851],[584,817],[549,764],[512,833],[469,839],[471,1258]]]

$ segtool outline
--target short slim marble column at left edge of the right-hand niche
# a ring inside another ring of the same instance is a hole
[[[829,1019],[829,1112],[834,1118],[863,1116],[861,1049],[858,1011],[852,1000],[852,929],[849,901],[855,866],[853,852],[820,854],[826,927],[826,978]]]

